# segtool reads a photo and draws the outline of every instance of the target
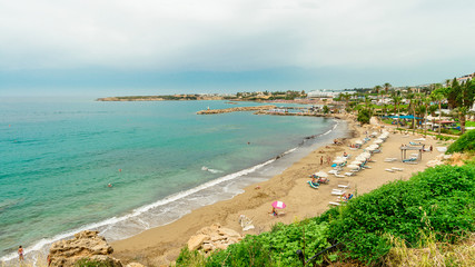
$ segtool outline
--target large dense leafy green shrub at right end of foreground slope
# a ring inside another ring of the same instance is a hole
[[[330,222],[330,238],[346,245],[346,255],[378,263],[390,249],[387,234],[417,245],[435,233],[441,241],[475,230],[475,167],[441,166],[408,181],[395,181],[354,199]],[[330,214],[328,216],[326,214]],[[335,217],[329,210],[321,217]]]

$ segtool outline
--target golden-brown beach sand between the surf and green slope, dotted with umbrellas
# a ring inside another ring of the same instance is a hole
[[[346,151],[353,156],[353,159],[363,152],[363,149],[350,150],[348,145],[356,139],[364,138],[365,131],[372,132],[373,130],[369,127],[357,127],[352,121],[349,121],[348,128],[353,131],[353,138],[344,140],[343,145],[328,144],[320,147],[295,162],[280,175],[270,180],[247,187],[244,194],[232,199],[205,206],[169,225],[152,228],[128,239],[112,243],[113,256],[123,263],[138,261],[145,265],[168,266],[178,257],[180,249],[187,244],[188,239],[202,227],[218,222],[238,233],[255,235],[269,230],[278,221],[290,224],[296,220],[315,217],[329,208],[329,201],[336,201],[336,196],[331,196],[331,189],[337,188],[338,185],[349,184],[350,189],[347,191],[355,194],[357,197],[388,181],[410,178],[413,174],[424,170],[428,160],[439,155],[435,149],[436,141],[432,137],[427,137],[424,144],[426,144],[426,147],[432,145],[434,151],[424,152],[423,159],[417,165],[403,164],[400,161],[400,145],[408,145],[409,141],[422,136],[390,134],[389,138],[382,144],[382,152],[373,156],[372,159],[376,162],[368,164],[372,167],[370,169],[362,170],[356,176],[346,178],[337,178],[329,175],[330,181],[328,185],[320,185],[318,189],[310,188],[307,184],[310,180],[308,178],[309,175],[319,170],[328,171],[331,169],[330,164],[326,164],[326,160],[320,166],[321,156],[324,156],[324,159],[327,156],[334,159],[336,156],[343,156],[343,152]],[[364,145],[363,148],[369,144],[372,141]],[[385,162],[385,158],[397,158],[398,160]],[[404,168],[404,170],[395,172],[385,170],[392,167]],[[259,189],[256,189],[256,186],[259,186]],[[275,200],[284,201],[287,205],[284,210],[278,210],[285,212],[278,217],[269,215],[270,205]],[[238,222],[239,215],[245,215],[253,219],[256,228],[243,233]]]

